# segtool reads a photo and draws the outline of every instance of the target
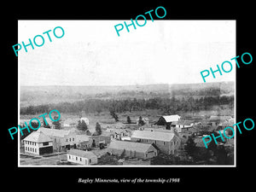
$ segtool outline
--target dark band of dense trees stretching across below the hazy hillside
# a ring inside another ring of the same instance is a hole
[[[38,106],[21,107],[20,114],[49,113],[52,109],[57,109],[61,113],[101,113],[105,111],[122,113],[143,111],[146,109],[160,109],[165,113],[196,112],[211,109],[214,105],[228,105],[234,108],[234,96],[202,96],[194,98],[161,98],[150,99],[123,99],[123,100],[101,100],[86,99],[79,102],[60,102],[57,104],[42,104]]]

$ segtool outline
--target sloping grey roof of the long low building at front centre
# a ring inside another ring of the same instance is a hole
[[[121,149],[127,151],[137,151],[146,153],[152,144],[136,143],[136,142],[124,142],[124,141],[113,141],[109,144],[108,148]],[[153,147],[154,148],[154,147]]]

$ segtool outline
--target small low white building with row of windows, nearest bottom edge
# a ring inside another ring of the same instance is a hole
[[[91,151],[83,151],[79,149],[71,149],[67,153],[67,161],[77,163],[83,166],[97,164],[96,154]]]

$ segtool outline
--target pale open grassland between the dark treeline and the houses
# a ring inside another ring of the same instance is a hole
[[[177,113],[182,117],[182,119],[192,119],[195,121],[201,121],[204,119],[207,119],[211,115],[230,115],[234,116],[234,111],[230,108],[224,108],[222,106],[216,106],[212,108],[212,110],[207,111],[200,111],[195,113]],[[32,118],[38,118],[38,115],[20,115],[20,122],[26,121],[27,124],[29,123],[29,120]],[[115,122],[115,120],[112,118],[109,112],[102,112],[102,113],[84,113],[83,117],[86,117],[89,119],[89,125],[88,128],[91,132],[95,131],[96,122],[99,122],[102,127],[110,126],[115,128],[123,127],[126,122],[127,116],[130,116],[131,122],[136,123],[136,120],[139,118],[139,116],[142,117],[148,117],[150,120],[150,123],[156,122],[160,116],[162,115],[170,115],[167,113],[163,113],[160,109],[159,110],[144,110],[144,111],[133,111],[133,112],[125,112],[125,113],[117,113],[119,117],[119,122]],[[43,120],[43,118],[39,118]],[[48,122],[51,122],[49,119],[49,116],[46,117],[46,120]],[[65,122],[72,122],[77,125],[79,121],[79,114],[73,114],[73,113],[61,113],[61,125],[63,126]],[[65,128],[68,129],[68,128]]]

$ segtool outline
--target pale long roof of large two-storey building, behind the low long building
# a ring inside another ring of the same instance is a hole
[[[175,136],[174,133],[159,131],[133,131],[131,138],[151,139],[157,141],[170,142]]]

